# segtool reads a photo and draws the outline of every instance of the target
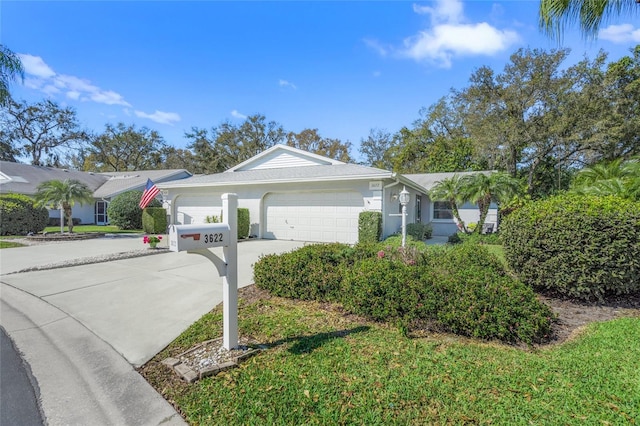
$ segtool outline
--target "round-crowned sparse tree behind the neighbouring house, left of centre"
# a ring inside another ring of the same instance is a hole
[[[155,130],[135,125],[107,124],[92,138],[84,158],[84,170],[119,172],[164,167],[169,147]]]

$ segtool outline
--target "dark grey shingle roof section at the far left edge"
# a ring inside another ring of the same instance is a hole
[[[89,189],[95,191],[108,179],[97,173],[79,172],[77,170],[56,169],[54,167],[32,166],[30,164],[0,161],[0,172],[8,179],[0,178],[0,193],[9,192],[34,195],[38,185],[50,180],[76,179],[84,182]]]

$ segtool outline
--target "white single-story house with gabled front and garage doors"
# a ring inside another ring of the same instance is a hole
[[[221,195],[236,193],[239,207],[249,209],[252,236],[345,243],[358,241],[363,211],[382,213],[383,237],[399,232],[398,198],[406,188],[410,194],[407,223],[431,223],[434,235],[451,235],[457,229],[451,210],[446,203],[431,202],[423,176],[430,175],[403,176],[275,145],[223,173],[163,182],[158,187],[172,224],[202,224],[207,216],[220,216]],[[468,215],[463,210],[470,221],[475,211],[477,221],[477,208],[468,209]],[[495,211],[491,218],[497,219]]]

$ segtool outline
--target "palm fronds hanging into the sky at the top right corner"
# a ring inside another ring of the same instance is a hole
[[[566,24],[577,21],[586,38],[595,38],[607,17],[638,11],[640,0],[540,0],[540,28],[561,38]]]

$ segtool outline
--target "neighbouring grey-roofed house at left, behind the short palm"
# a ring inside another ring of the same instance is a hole
[[[74,205],[73,217],[85,224],[106,225],[109,223],[107,206],[116,195],[127,191],[144,190],[147,179],[159,183],[190,176],[189,172],[181,169],[94,173],[0,161],[0,194],[17,193],[34,196],[38,185],[42,182],[76,179],[84,182],[93,191],[95,200],[90,205]],[[59,219],[60,211],[50,209],[49,217]]]

